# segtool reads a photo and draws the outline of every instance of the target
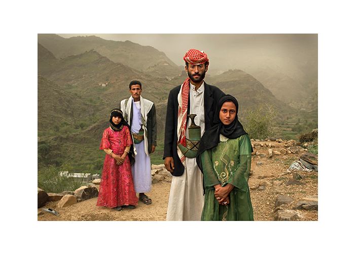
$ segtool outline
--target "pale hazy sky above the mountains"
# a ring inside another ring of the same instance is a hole
[[[105,40],[129,40],[164,52],[184,65],[190,48],[204,50],[215,70],[271,67],[295,69],[299,62],[317,61],[316,34],[58,34],[69,38],[95,35]]]

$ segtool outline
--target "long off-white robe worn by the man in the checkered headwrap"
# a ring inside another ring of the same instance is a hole
[[[201,127],[201,136],[205,128],[203,96],[204,82],[197,91],[190,83],[189,114],[197,115],[194,121]],[[188,117],[187,127],[190,124],[191,119]],[[186,138],[189,138],[188,128]],[[172,177],[166,220],[201,220],[204,203],[203,175],[196,164],[196,158],[185,158],[185,165],[183,175]]]

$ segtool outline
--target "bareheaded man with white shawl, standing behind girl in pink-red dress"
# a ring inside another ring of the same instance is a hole
[[[131,97],[122,100],[120,109],[131,126],[135,162],[132,166],[133,184],[138,198],[146,205],[152,200],[145,194],[152,188],[151,159],[149,154],[157,146],[157,120],[153,102],[140,96],[141,83],[133,80],[129,83]]]

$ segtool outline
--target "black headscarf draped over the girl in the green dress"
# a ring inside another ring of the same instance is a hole
[[[222,108],[223,103],[226,101],[231,101],[234,103],[236,108],[236,115],[234,120],[229,125],[224,125],[220,119],[220,111]],[[201,154],[205,150],[214,148],[220,142],[220,134],[229,138],[229,139],[236,139],[241,135],[247,134],[244,129],[243,125],[238,120],[238,102],[233,96],[226,94],[225,96],[221,97],[221,99],[217,103],[217,108],[215,111],[214,116],[214,125],[206,130],[200,140],[200,145],[197,152],[196,162],[198,167],[202,171],[202,162],[201,162]]]

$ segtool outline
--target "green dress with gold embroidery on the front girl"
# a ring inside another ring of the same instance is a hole
[[[201,220],[254,220],[248,187],[252,162],[252,145],[248,135],[228,139],[220,134],[220,143],[201,154],[204,206]],[[215,197],[216,184],[230,183],[228,205],[220,205]]]

